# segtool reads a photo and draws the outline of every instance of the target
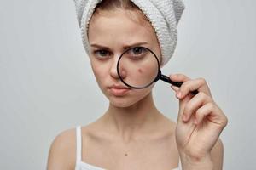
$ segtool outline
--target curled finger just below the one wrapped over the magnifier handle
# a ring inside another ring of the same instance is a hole
[[[199,92],[192,99],[189,100],[183,111],[183,121],[188,122],[190,116],[200,108],[202,105],[212,102],[212,99],[205,93]]]

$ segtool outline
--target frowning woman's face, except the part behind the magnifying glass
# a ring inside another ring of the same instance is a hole
[[[127,88],[117,73],[119,56],[126,48],[143,46],[160,56],[160,46],[153,27],[146,20],[138,21],[143,15],[125,9],[104,11],[94,14],[88,31],[90,64],[96,81],[110,103],[117,107],[128,107],[147,96],[154,85],[144,89]],[[125,78],[125,75],[124,77]]]

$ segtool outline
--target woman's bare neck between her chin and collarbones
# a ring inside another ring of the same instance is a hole
[[[103,117],[113,132],[118,133],[122,139],[129,140],[154,126],[159,115],[150,93],[129,107],[120,108],[110,104]]]

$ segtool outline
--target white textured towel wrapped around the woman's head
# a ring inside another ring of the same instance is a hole
[[[84,48],[89,55],[87,30],[96,5],[102,0],[74,0],[74,2]],[[143,14],[154,27],[160,42],[161,66],[166,65],[171,59],[177,44],[177,23],[184,10],[182,0],[131,0],[131,2],[143,11]]]

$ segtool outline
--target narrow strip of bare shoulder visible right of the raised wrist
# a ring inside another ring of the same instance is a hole
[[[219,170],[223,168],[224,159],[224,144],[221,139],[218,139],[216,144],[211,150],[211,158],[213,162],[213,170]]]

